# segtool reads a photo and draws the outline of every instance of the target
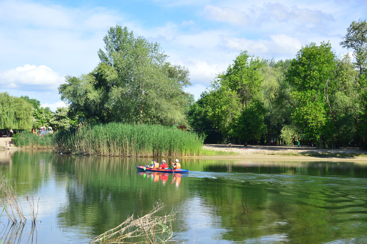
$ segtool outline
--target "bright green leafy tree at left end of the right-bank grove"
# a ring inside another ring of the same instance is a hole
[[[261,101],[265,63],[242,52],[226,72],[212,82],[207,98],[208,118],[224,136],[238,141],[258,141],[265,130],[264,104]]]

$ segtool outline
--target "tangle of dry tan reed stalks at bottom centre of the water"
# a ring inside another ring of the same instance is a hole
[[[162,210],[164,204],[156,202],[155,207],[148,214],[134,219],[131,215],[119,226],[106,231],[105,233],[95,237],[90,241],[94,243],[141,243],[141,244],[164,244],[176,243],[172,240],[173,232],[171,223],[176,212],[171,211],[170,214],[164,216],[154,216],[158,211]],[[131,238],[139,239],[138,242],[133,242]],[[130,240],[127,240],[130,239]]]

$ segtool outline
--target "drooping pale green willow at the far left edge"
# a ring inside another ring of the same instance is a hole
[[[23,98],[0,93],[0,129],[9,131],[32,128],[32,105]]]

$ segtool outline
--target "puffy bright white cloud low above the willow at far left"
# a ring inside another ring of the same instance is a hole
[[[6,70],[0,74],[0,84],[4,88],[21,91],[56,90],[65,81],[64,77],[46,65],[29,65]]]

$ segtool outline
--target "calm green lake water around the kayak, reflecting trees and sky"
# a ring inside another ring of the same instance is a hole
[[[189,174],[137,171],[151,160],[1,151],[24,212],[24,196],[40,200],[34,231],[1,217],[0,243],[88,243],[157,200],[178,210],[181,243],[367,243],[367,163],[182,159]]]

